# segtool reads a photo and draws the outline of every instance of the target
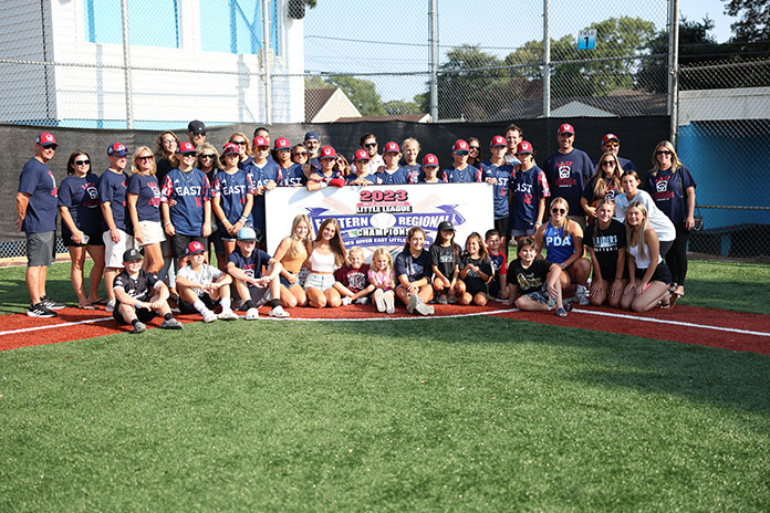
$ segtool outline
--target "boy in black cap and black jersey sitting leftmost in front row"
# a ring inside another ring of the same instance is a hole
[[[157,314],[163,315],[162,328],[181,329],[181,323],[174,318],[166,302],[168,289],[155,274],[142,269],[143,260],[142,253],[133,248],[123,253],[124,270],[113,281],[117,301],[113,317],[118,324],[131,324],[134,334],[146,332],[145,323]]]

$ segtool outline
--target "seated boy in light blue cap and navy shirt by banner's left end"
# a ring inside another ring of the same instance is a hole
[[[230,253],[227,272],[236,280],[236,291],[246,308],[247,321],[259,318],[259,308],[268,302],[272,306],[271,317],[288,317],[289,312],[281,306],[281,262],[257,249],[257,232],[253,228],[238,231],[236,251]],[[262,276],[262,266],[269,268],[269,274]]]

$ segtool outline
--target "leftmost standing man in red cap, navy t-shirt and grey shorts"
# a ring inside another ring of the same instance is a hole
[[[34,157],[24,164],[15,198],[19,231],[27,235],[27,289],[32,304],[30,317],[55,317],[64,305],[45,294],[48,266],[53,262],[56,234],[56,180],[48,167],[56,153],[56,139],[43,132],[34,140]]]

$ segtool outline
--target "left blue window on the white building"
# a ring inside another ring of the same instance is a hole
[[[179,48],[177,0],[127,1],[132,45]],[[123,44],[121,0],[84,0],[83,4],[86,41]]]

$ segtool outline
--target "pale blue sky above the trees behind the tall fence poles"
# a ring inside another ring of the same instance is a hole
[[[477,44],[500,57],[527,41],[542,40],[543,0],[517,0],[516,11],[500,9],[502,2],[438,0],[439,59],[460,44]],[[559,39],[595,21],[612,17],[638,17],[665,28],[665,0],[606,2],[596,0],[551,0],[551,36]],[[426,91],[429,70],[428,0],[400,2],[350,2],[318,0],[304,18],[305,71],[345,73],[425,72],[419,76],[383,76],[373,81],[384,101],[413,100]],[[680,15],[715,22],[717,42],[730,38],[730,23],[722,0],[680,0]],[[354,40],[354,41],[347,41]],[[364,77],[364,76],[362,76]]]

